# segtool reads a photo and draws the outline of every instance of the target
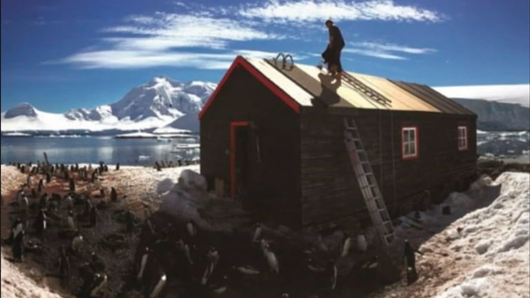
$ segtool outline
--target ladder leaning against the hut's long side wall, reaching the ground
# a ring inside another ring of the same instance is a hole
[[[372,224],[375,226],[379,238],[388,246],[395,239],[394,227],[386,210],[372,166],[370,161],[368,161],[368,156],[361,142],[361,137],[359,137],[355,121],[352,119],[349,122],[348,119],[344,118],[344,128],[344,142],[346,143],[357,181],[359,181],[366,208],[368,208]]]

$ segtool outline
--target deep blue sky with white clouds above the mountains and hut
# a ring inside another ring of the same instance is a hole
[[[1,1],[1,110],[66,112],[155,76],[218,82],[237,54],[316,65],[323,22],[346,70],[430,86],[529,83],[528,0]]]

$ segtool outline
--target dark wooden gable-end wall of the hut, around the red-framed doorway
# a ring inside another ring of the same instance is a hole
[[[250,139],[249,201],[256,215],[291,226],[300,224],[299,115],[243,68],[232,72],[200,121],[200,171],[209,187],[214,178],[230,185],[230,122],[254,121]],[[256,156],[258,135],[261,162]]]

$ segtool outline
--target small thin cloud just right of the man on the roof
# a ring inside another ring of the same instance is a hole
[[[403,54],[427,54],[436,52],[433,48],[413,48],[410,46],[399,46],[393,43],[359,42],[351,43],[352,47],[345,48],[343,52],[361,54],[364,56],[390,60],[408,60]]]

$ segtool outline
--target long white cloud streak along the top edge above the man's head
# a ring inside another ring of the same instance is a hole
[[[303,13],[302,13],[303,12]],[[242,17],[258,18],[268,22],[304,23],[324,19],[337,21],[443,21],[446,17],[432,10],[416,6],[397,5],[392,0],[370,1],[278,1],[242,6],[238,11]]]

